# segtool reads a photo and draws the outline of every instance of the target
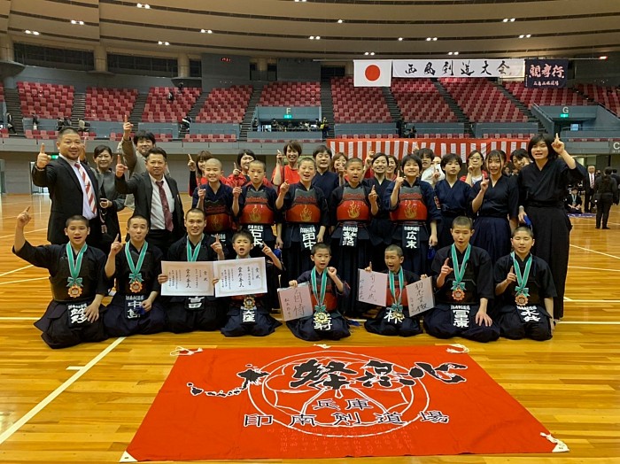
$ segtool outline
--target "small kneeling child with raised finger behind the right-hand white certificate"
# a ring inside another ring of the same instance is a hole
[[[250,258],[250,252],[254,247],[254,237],[247,230],[236,232],[232,240],[233,249],[236,252],[236,259]],[[275,256],[274,251],[267,245],[263,246],[263,254],[267,256],[267,288],[274,279],[270,278],[270,274],[280,275],[282,272],[282,263]],[[214,282],[217,283],[219,278],[216,276]],[[269,315],[269,304],[267,294],[261,293],[256,295],[239,295],[229,297],[226,305],[229,308],[227,313],[226,325],[221,329],[221,333],[225,336],[267,336],[274,332],[275,328],[281,326],[282,323],[275,321]]]

